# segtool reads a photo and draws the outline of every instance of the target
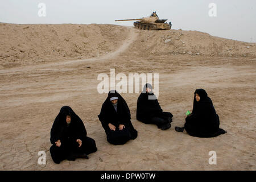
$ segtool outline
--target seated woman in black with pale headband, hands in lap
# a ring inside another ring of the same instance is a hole
[[[137,138],[137,131],[131,124],[131,114],[126,101],[116,90],[110,90],[98,115],[109,143],[125,144]]]

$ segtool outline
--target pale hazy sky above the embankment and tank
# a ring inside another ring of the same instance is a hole
[[[39,16],[39,3],[46,16]],[[208,7],[215,3],[216,15]],[[133,26],[134,19],[151,15],[168,19],[172,28],[197,30],[213,36],[256,42],[256,0],[0,0],[0,22],[5,23],[108,23]]]

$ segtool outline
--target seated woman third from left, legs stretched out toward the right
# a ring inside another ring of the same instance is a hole
[[[151,84],[145,84],[142,93],[138,97],[136,117],[138,121],[155,124],[162,130],[171,127],[172,114],[163,112],[155,94],[152,92]]]

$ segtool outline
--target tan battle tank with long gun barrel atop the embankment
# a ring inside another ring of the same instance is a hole
[[[139,19],[118,19],[115,20],[115,22],[118,21],[130,21],[130,20],[137,20],[134,22],[134,27],[139,28],[141,30],[170,30],[172,27],[171,22],[166,22],[167,19],[159,19],[158,15],[156,15],[156,12],[154,11],[151,16],[148,16],[146,18],[139,18]]]

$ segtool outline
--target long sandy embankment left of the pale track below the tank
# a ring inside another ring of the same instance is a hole
[[[127,38],[127,28],[110,24],[0,23],[0,32],[3,67],[97,57]]]

